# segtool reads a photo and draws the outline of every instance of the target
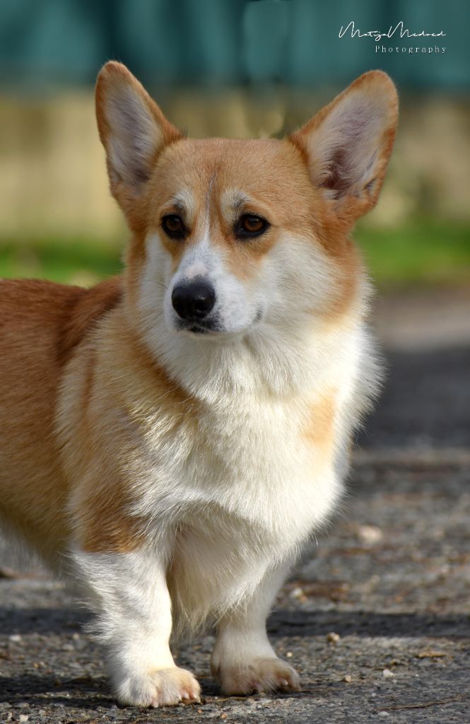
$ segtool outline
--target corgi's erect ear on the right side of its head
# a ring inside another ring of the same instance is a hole
[[[371,70],[290,136],[306,156],[314,185],[351,220],[377,201],[397,119],[395,85]]]

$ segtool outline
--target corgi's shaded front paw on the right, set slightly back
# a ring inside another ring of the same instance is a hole
[[[252,694],[253,691],[297,691],[298,673],[277,657],[257,658],[238,665],[221,664],[216,673],[225,694]]]

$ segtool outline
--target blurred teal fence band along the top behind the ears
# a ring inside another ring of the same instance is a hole
[[[445,35],[340,38],[351,21]],[[340,84],[382,67],[402,86],[466,92],[469,35],[466,0],[1,0],[0,83],[89,84],[119,59],[152,85]]]

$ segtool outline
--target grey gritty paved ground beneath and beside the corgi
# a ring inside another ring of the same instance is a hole
[[[48,578],[17,576],[0,580],[0,721],[470,724],[470,307],[446,300],[452,324],[432,297],[380,311],[389,380],[348,499],[269,621],[301,692],[219,696],[206,636],[178,654],[200,706],[118,708],[85,614]]]

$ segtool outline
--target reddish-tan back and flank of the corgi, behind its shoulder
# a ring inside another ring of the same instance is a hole
[[[55,430],[59,384],[83,338],[117,303],[119,288],[114,279],[88,291],[29,279],[0,282],[0,514],[52,560],[71,530],[70,481]]]

